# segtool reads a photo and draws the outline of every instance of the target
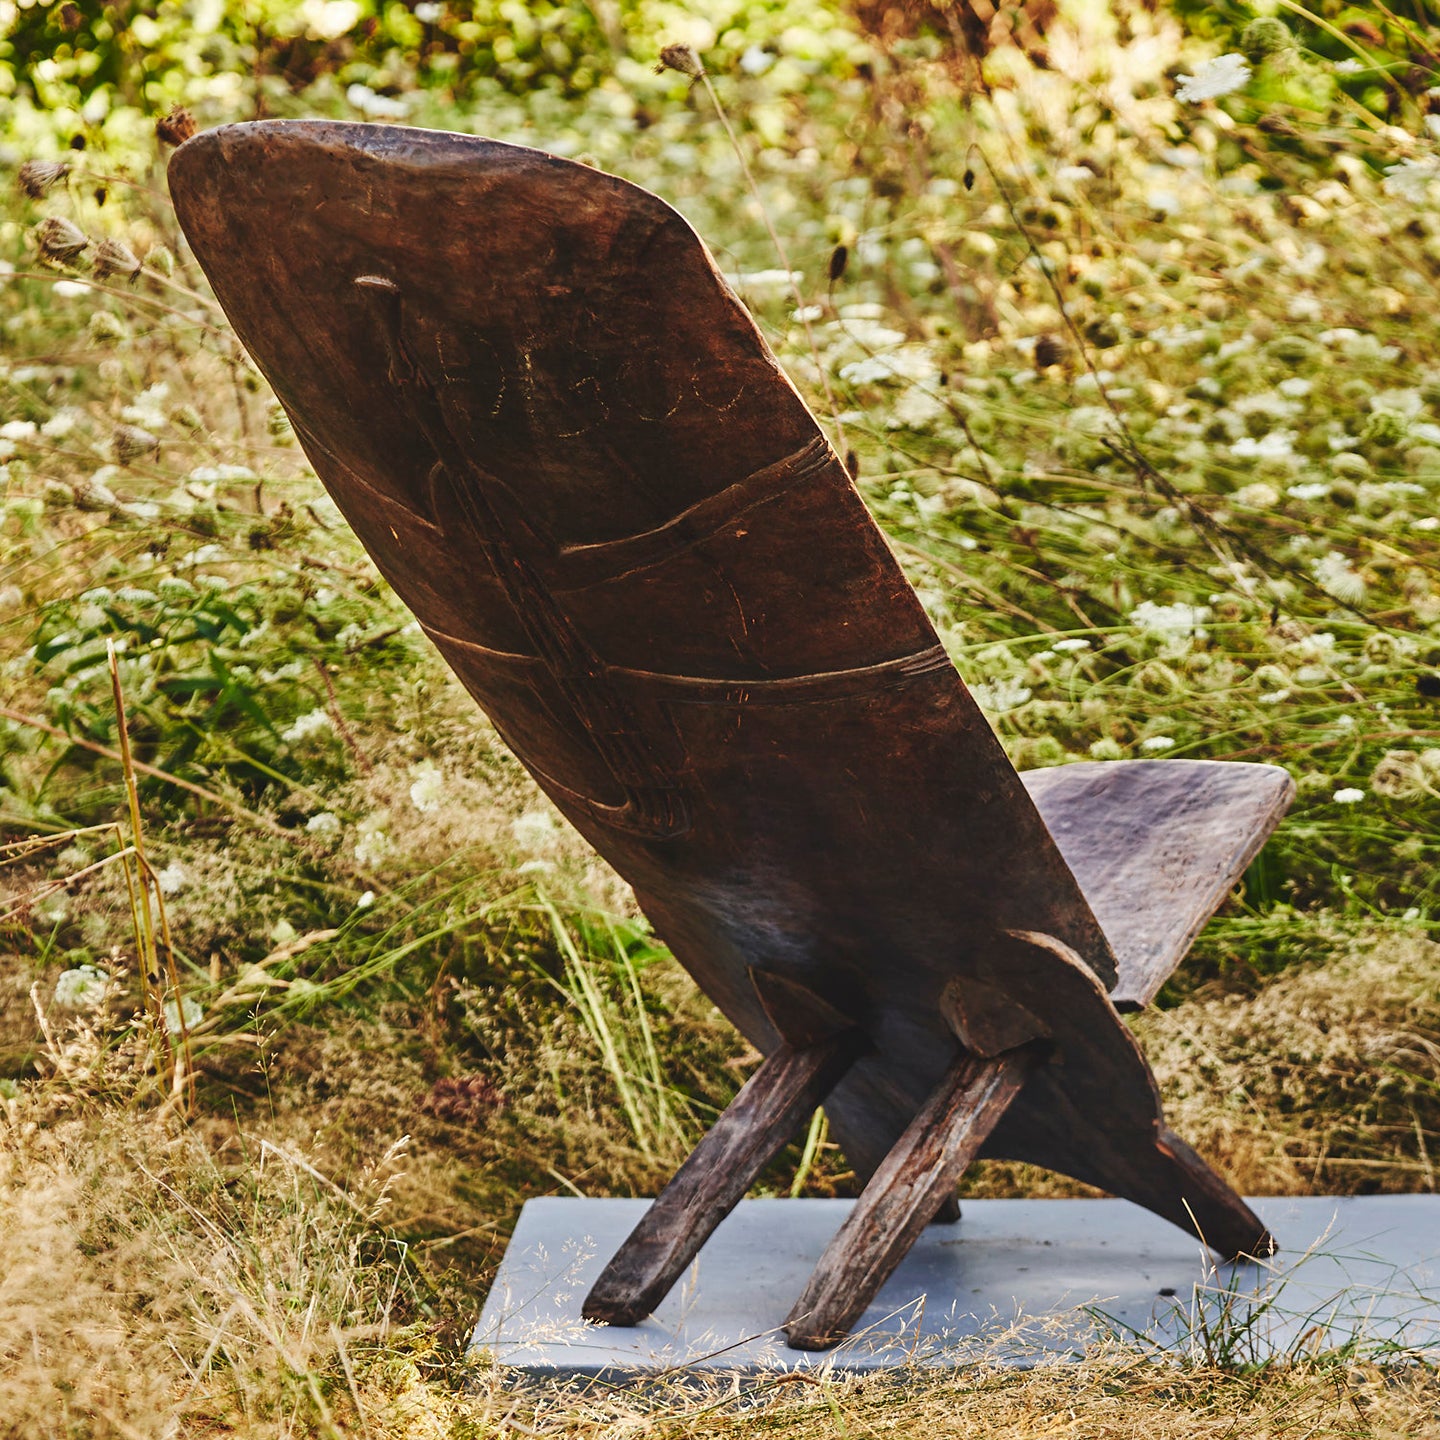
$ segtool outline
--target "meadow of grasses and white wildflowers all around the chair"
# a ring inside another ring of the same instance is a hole
[[[1135,1021],[1176,1129],[1251,1194],[1433,1191],[1426,14],[1076,3],[979,59],[812,0],[0,6],[0,1433],[1440,1434],[1364,1352],[743,1410],[464,1359],[520,1204],[652,1192],[757,1057],[346,528],[154,134],[405,120],[681,209],[1018,766],[1295,775]],[[765,1189],[848,1181],[816,1117]]]

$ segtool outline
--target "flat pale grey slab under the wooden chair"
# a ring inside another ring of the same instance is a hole
[[[1119,1336],[1233,1364],[1355,1344],[1440,1358],[1440,1195],[1257,1200],[1283,1253],[1215,1269],[1182,1231],[1119,1200],[968,1200],[930,1225],[828,1354],[780,1331],[845,1200],[746,1200],[632,1329],[580,1302],[644,1200],[533,1200],[472,1349],[537,1378],[635,1381],[809,1367],[1030,1365]]]

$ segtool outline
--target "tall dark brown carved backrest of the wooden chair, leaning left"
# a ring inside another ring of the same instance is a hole
[[[998,936],[1043,932],[1113,981],[680,215],[537,151],[382,125],[225,127],[170,181],[346,518],[681,963],[766,1051],[752,971],[863,1021],[876,1058],[829,1106],[863,1172],[953,1057],[940,995]]]

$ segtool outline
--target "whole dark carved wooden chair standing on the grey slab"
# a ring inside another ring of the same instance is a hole
[[[1261,765],[1017,775],[690,226],[464,135],[184,144],[180,222],[320,478],[544,792],[765,1058],[585,1306],[636,1323],[824,1102],[865,1182],[824,1348],[978,1155],[1270,1248],[1165,1128],[1146,1004],[1292,795]]]

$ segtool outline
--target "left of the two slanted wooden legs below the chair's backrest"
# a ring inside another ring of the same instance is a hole
[[[766,1056],[600,1272],[585,1299],[585,1318],[638,1325],[649,1315],[863,1044],[850,1030],[811,1045],[782,1044]]]

